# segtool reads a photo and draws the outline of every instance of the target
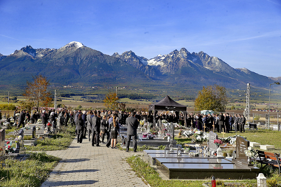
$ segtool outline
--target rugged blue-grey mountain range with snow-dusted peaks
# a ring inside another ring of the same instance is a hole
[[[204,52],[188,52],[185,48],[147,59],[132,51],[106,55],[70,42],[59,49],[33,49],[26,46],[4,56],[0,53],[0,83],[25,84],[32,76],[42,74],[62,85],[80,84],[155,84],[179,88],[201,88],[221,84],[237,89],[250,83],[268,88],[280,77],[259,75],[246,68],[233,68],[218,57]]]

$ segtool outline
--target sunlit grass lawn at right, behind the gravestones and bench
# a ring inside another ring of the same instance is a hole
[[[234,132],[224,134],[224,137],[227,136],[234,136],[240,135],[246,137],[247,140],[252,142],[260,143],[261,145],[274,145],[275,150],[268,150],[268,152],[272,153],[281,153],[281,131],[275,130],[266,130],[266,129],[259,129],[259,130],[245,130],[245,132]],[[219,137],[223,137],[223,134],[218,133]],[[191,143],[191,138],[186,138],[185,136],[175,136],[175,139],[181,143]],[[257,147],[259,149],[259,147]]]

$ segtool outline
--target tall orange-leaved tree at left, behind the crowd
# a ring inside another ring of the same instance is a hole
[[[23,96],[25,96],[27,101],[33,102],[37,111],[39,111],[40,106],[47,107],[52,101],[51,93],[47,91],[50,82],[47,80],[47,77],[42,75],[32,77],[34,82],[26,81],[27,87]]]

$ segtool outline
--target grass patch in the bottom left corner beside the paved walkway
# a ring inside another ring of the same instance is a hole
[[[24,161],[6,159],[5,163],[0,164],[0,186],[38,187],[47,179],[60,160],[46,153],[30,154],[30,158]]]

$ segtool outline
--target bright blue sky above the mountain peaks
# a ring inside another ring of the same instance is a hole
[[[148,59],[185,47],[234,68],[281,76],[281,1],[0,0],[0,53],[77,41]]]

